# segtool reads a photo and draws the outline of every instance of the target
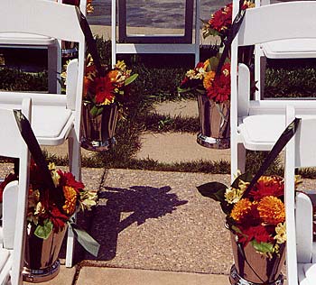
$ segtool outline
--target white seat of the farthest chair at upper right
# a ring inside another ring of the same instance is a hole
[[[315,39],[269,41],[262,44],[261,48],[268,59],[306,59],[316,57]]]

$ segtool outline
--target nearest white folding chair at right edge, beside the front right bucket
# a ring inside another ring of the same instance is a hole
[[[295,116],[293,106],[286,110],[287,123]],[[286,266],[288,285],[312,285],[316,280],[316,254],[313,251],[312,204],[303,193],[295,195],[294,174],[300,167],[316,166],[315,144],[316,115],[302,115],[301,123],[286,145],[285,152],[285,216]]]

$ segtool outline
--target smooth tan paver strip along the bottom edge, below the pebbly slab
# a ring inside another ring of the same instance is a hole
[[[227,275],[84,267],[76,285],[228,285]]]

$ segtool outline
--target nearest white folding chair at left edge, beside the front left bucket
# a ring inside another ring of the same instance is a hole
[[[23,115],[31,118],[31,99],[24,98]],[[19,182],[9,183],[3,194],[3,227],[0,241],[0,284],[22,284],[29,191],[30,154],[12,109],[0,108],[0,155],[19,159]]]

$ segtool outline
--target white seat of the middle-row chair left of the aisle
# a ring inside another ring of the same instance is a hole
[[[32,111],[33,132],[41,144],[58,145],[64,142],[73,126],[71,110],[62,106],[33,106]]]

